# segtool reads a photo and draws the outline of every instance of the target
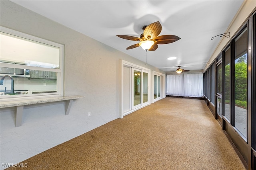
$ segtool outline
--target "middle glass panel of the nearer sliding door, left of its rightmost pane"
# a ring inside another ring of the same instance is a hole
[[[135,68],[133,70],[133,107],[141,106],[141,71]]]

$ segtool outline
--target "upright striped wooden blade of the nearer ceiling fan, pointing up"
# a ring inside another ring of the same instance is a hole
[[[157,22],[149,24],[145,28],[143,35],[147,39],[148,38],[154,39],[155,37],[157,37],[160,34],[161,31],[162,31],[162,25],[160,24],[159,21],[157,21]]]

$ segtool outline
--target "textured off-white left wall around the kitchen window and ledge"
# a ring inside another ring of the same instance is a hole
[[[64,44],[64,95],[85,96],[69,115],[62,102],[25,107],[21,127],[15,127],[14,108],[1,109],[1,169],[117,119],[120,59],[164,73],[10,1],[0,1],[0,14],[3,27]]]

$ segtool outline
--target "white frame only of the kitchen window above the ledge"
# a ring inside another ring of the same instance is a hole
[[[55,43],[52,41],[48,41],[46,39],[42,39],[39,37],[35,37],[32,35],[28,35],[26,33],[21,33],[19,31],[15,31],[6,27],[2,27],[0,26],[0,31],[3,33],[7,33],[7,34],[11,34],[14,36],[18,36],[18,37],[22,37],[25,39],[29,39],[32,41],[37,41],[40,43],[44,43],[47,45],[52,45],[55,47],[60,48],[60,69],[56,69],[56,68],[43,68],[43,67],[35,67],[35,66],[26,66],[26,65],[21,65],[21,64],[12,64],[12,63],[0,63],[1,67],[10,67],[10,68],[21,68],[21,69],[30,69],[30,70],[41,70],[41,71],[54,71],[58,73],[57,76],[57,92],[53,92],[53,93],[41,93],[41,94],[32,94],[32,95],[28,95],[28,96],[24,96],[24,95],[11,95],[11,96],[7,96],[7,97],[2,97],[0,98],[0,101],[9,101],[9,100],[22,100],[22,99],[33,99],[33,98],[46,98],[46,97],[60,97],[63,96],[64,92],[64,88],[63,88],[63,84],[64,84],[64,76],[63,76],[63,72],[64,72],[64,45],[59,44],[59,43]]]

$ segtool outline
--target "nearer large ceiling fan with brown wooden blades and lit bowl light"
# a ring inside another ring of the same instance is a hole
[[[160,35],[160,32],[162,30],[162,25],[159,21],[156,21],[154,23],[151,23],[150,25],[144,25],[142,28],[144,32],[139,37],[134,37],[130,35],[116,35],[123,39],[128,39],[132,41],[140,41],[140,43],[131,45],[127,47],[126,49],[133,49],[136,47],[141,46],[144,50],[149,51],[155,51],[158,48],[158,44],[168,44],[173,43],[175,41],[178,41],[180,37],[176,35]]]

